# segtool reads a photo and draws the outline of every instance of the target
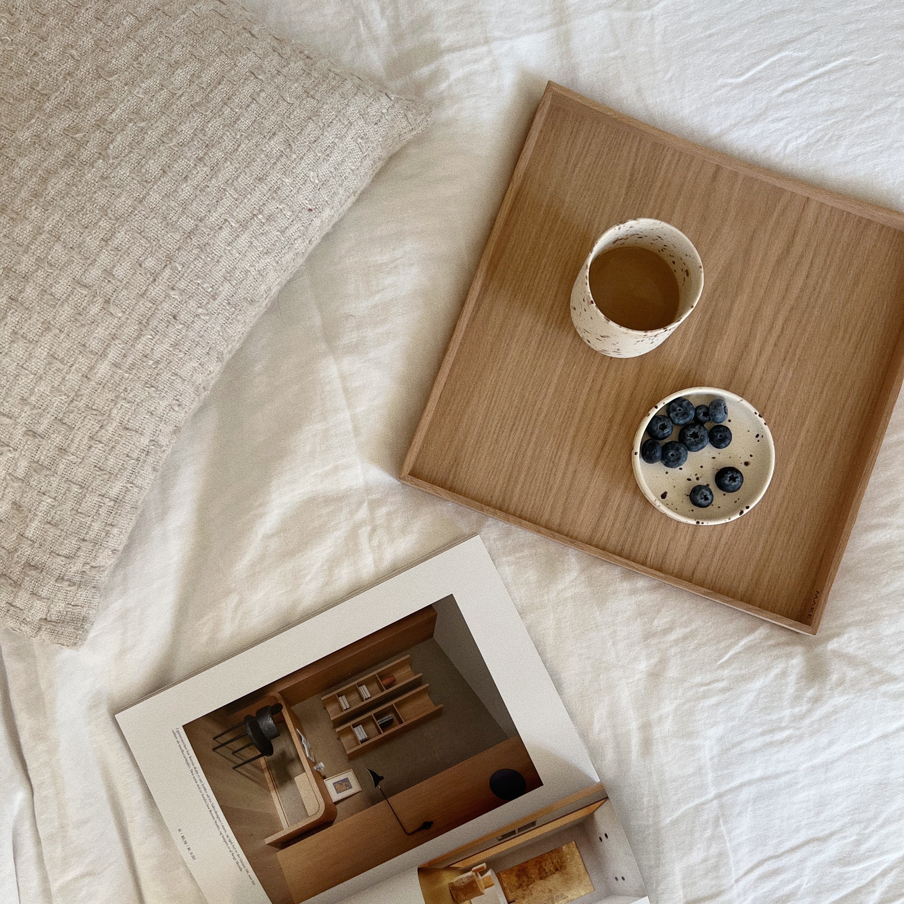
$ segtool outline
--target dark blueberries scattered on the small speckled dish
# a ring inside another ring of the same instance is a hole
[[[654,414],[646,425],[649,439],[640,447],[640,457],[648,465],[662,462],[667,468],[681,467],[687,461],[688,452],[699,452],[707,446],[723,449],[731,443],[731,431],[725,426],[729,409],[724,399],[713,399],[709,405],[693,407],[693,402],[683,396],[665,406],[665,414]],[[707,429],[706,425],[712,424]],[[660,440],[672,436],[672,430],[680,427],[678,441],[659,445]],[[724,493],[737,493],[744,483],[744,476],[736,467],[722,467],[716,472],[716,486]],[[690,493],[692,504],[707,508],[712,504],[712,490],[705,484],[695,485]]]

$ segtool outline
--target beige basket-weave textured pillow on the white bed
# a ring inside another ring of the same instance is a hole
[[[418,103],[205,0],[0,6],[0,606],[78,645],[179,429]]]

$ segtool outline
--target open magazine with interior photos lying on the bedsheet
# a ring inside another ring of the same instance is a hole
[[[212,904],[634,904],[479,537],[118,713]]]

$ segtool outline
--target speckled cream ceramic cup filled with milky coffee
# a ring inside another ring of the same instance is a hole
[[[590,264],[613,248],[645,248],[662,258],[678,280],[678,310],[672,323],[655,330],[633,330],[607,317],[590,292]],[[571,320],[590,348],[610,358],[636,358],[652,352],[683,324],[703,291],[703,265],[692,241],[661,220],[629,220],[605,231],[593,246],[571,289]]]

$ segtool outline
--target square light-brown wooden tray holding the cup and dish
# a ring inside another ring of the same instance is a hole
[[[616,360],[571,325],[615,223],[673,223],[705,287],[673,336]],[[814,634],[898,397],[904,214],[693,145],[550,83],[402,469],[430,493]],[[675,522],[637,488],[640,419],[737,392],[776,444],[737,521]]]

